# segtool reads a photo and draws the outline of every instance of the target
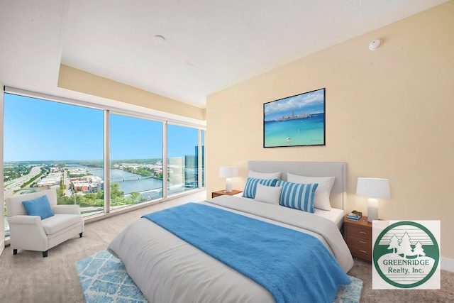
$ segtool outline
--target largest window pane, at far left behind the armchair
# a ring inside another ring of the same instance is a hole
[[[101,182],[103,125],[99,109],[5,94],[4,198],[51,188],[58,204],[103,211],[102,197],[89,194]]]

